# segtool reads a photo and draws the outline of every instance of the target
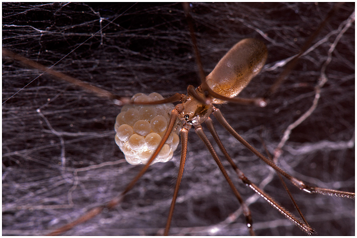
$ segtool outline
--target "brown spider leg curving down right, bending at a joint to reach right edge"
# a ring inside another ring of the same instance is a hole
[[[323,195],[331,195],[331,196],[338,196],[338,197],[346,197],[346,198],[355,199],[355,193],[354,192],[344,192],[344,191],[339,191],[339,190],[333,190],[333,189],[309,186],[309,185],[306,185],[303,181],[301,181],[301,180],[289,175],[284,170],[280,169],[273,161],[265,158],[261,153],[259,153],[256,149],[254,149],[254,147],[252,147],[248,142],[246,142],[237,133],[237,131],[235,131],[235,129],[233,129],[232,126],[227,122],[227,120],[223,117],[223,115],[222,115],[222,113],[221,113],[221,111],[219,109],[215,108],[214,111],[213,111],[213,115],[223,125],[223,127],[226,128],[226,130],[228,132],[230,132],[248,150],[253,152],[253,154],[258,156],[262,161],[264,161],[267,165],[272,167],[276,172],[280,173],[285,178],[289,179],[290,182],[293,183],[295,186],[297,186],[300,190],[303,190],[303,191],[308,192],[308,193],[319,193],[319,194],[323,194]]]

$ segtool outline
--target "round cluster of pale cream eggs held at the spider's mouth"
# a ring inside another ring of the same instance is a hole
[[[158,93],[135,94],[133,102],[152,102],[164,99]],[[125,105],[115,123],[115,141],[131,165],[147,164],[164,136],[174,105]],[[178,129],[174,128],[168,140],[151,164],[172,159],[179,145]]]

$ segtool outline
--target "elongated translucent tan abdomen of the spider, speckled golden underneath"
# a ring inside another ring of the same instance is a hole
[[[260,72],[267,56],[268,50],[262,41],[243,39],[218,62],[206,77],[206,82],[214,92],[233,98]],[[219,99],[212,101],[224,102]]]

